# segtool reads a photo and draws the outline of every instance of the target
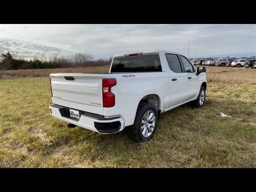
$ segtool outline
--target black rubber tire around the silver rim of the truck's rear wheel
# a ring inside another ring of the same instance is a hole
[[[141,123],[142,123],[142,118],[143,118],[144,114],[148,110],[151,110],[154,112],[155,126],[154,126],[154,129],[153,129],[152,133],[150,134],[150,136],[144,137],[142,134]],[[158,120],[158,116],[157,116],[157,110],[156,110],[155,106],[150,103],[147,103],[147,102],[140,102],[137,112],[136,112],[134,124],[127,128],[126,133],[127,133],[128,137],[130,139],[134,140],[135,142],[149,141],[150,139],[153,138],[154,133],[156,132],[157,120]]]

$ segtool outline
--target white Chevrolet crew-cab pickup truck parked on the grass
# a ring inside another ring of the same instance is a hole
[[[52,117],[98,133],[126,128],[136,142],[150,140],[160,114],[187,102],[200,108],[206,68],[184,55],[148,51],[114,56],[109,73],[50,74]]]

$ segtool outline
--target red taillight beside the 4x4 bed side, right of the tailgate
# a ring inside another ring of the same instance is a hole
[[[116,79],[102,79],[103,107],[115,106],[115,95],[111,92],[111,87],[116,85]]]

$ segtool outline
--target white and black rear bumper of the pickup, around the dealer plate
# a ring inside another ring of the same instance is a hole
[[[124,129],[124,120],[121,117],[105,118],[97,114],[79,111],[81,113],[80,119],[76,119],[68,115],[69,109],[64,106],[52,104],[49,108],[52,117],[94,132],[108,134],[120,132]]]

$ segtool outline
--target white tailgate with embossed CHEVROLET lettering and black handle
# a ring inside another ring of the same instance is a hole
[[[101,74],[50,74],[50,79],[54,104],[103,114]]]

